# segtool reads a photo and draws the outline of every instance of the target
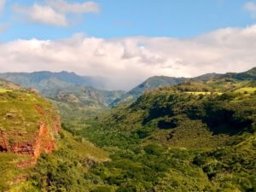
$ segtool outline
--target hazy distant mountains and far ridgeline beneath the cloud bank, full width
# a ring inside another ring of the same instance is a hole
[[[75,73],[34,72],[34,73],[0,73],[0,79],[6,79],[20,84],[22,87],[35,88],[43,96],[55,102],[80,105],[90,108],[108,108],[117,106],[121,102],[135,101],[146,90],[154,90],[163,86],[170,86],[186,81],[208,81],[210,79],[256,79],[256,67],[243,73],[207,73],[195,78],[174,78],[154,76],[142,84],[126,92],[117,90],[102,90],[104,79],[79,76]],[[61,104],[63,106],[63,103]]]

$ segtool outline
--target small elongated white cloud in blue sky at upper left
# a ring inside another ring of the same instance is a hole
[[[67,3],[64,0],[48,0],[44,4],[34,3],[30,7],[16,5],[14,10],[25,15],[29,21],[52,26],[68,26],[71,22],[67,15],[96,13],[100,11],[100,7],[94,2]]]

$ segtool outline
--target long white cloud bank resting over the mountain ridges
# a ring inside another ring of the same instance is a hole
[[[256,26],[224,28],[196,38],[15,40],[0,44],[1,72],[73,71],[129,90],[154,75],[193,77],[256,66]],[[8,65],[7,65],[8,64]]]

